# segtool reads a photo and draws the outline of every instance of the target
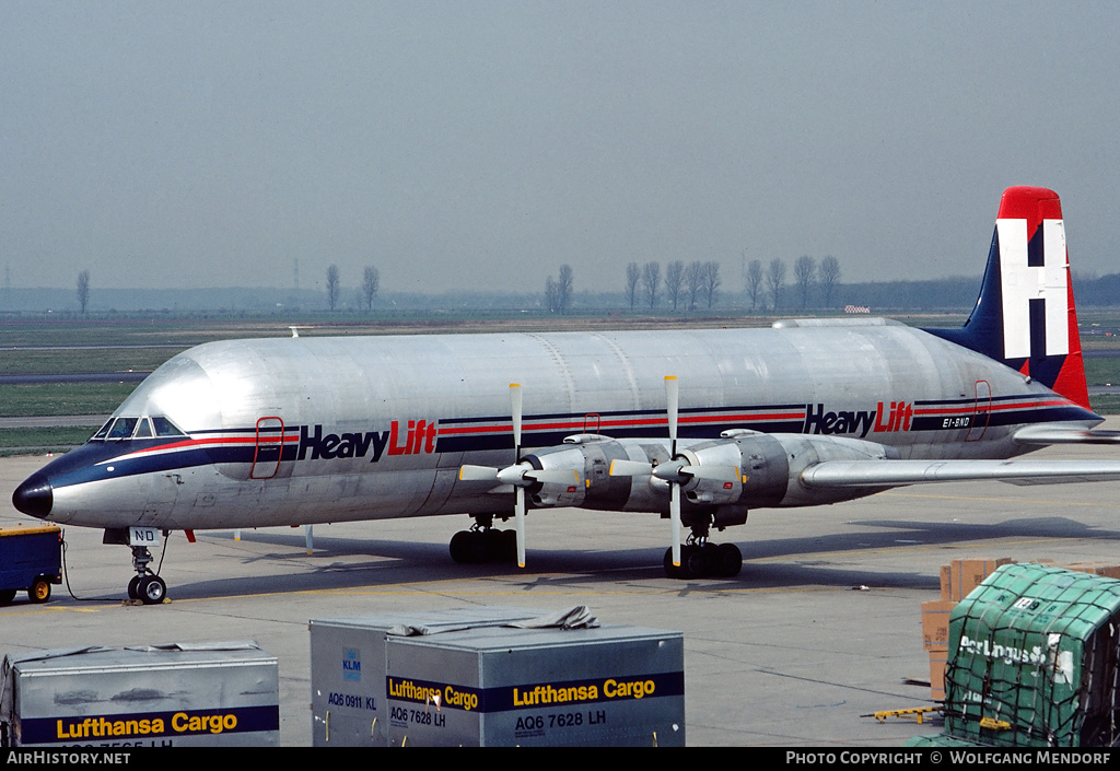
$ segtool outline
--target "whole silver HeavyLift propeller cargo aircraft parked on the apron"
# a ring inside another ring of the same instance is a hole
[[[513,383],[511,387],[510,384]],[[524,405],[524,409],[523,409]],[[767,329],[278,337],[160,366],[20,511],[132,546],[129,594],[166,592],[164,530],[469,514],[458,561],[524,564],[531,505],[670,520],[670,575],[734,576],[709,541],[748,509],[961,480],[1120,479],[1120,462],[1008,459],[1093,430],[1056,194],[1002,197],[960,329],[881,318]],[[513,518],[515,529],[493,528]],[[681,530],[689,529],[683,548]]]

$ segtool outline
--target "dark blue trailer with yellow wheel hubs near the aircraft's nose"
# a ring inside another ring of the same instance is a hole
[[[50,598],[50,585],[63,583],[63,531],[55,526],[0,528],[0,605],[16,592],[34,603]]]

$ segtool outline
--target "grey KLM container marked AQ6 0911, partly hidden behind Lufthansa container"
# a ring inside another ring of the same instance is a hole
[[[525,607],[460,607],[312,619],[311,743],[315,746],[388,746],[385,639],[405,628],[429,633],[503,624],[543,615]]]

